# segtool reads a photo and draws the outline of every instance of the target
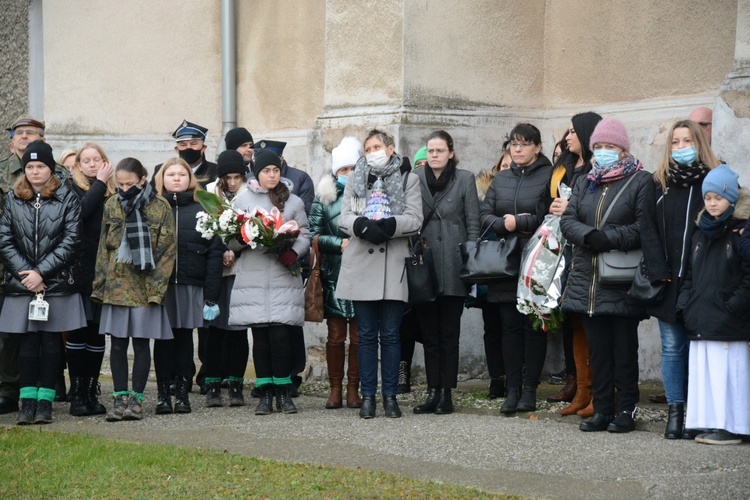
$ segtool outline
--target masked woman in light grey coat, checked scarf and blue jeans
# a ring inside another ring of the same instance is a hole
[[[341,206],[339,229],[352,238],[342,256],[336,297],[354,301],[362,387],[359,416],[375,416],[380,343],[383,407],[387,417],[398,418],[398,332],[409,299],[404,259],[409,237],[422,225],[422,203],[417,177],[407,174],[404,182],[402,159],[390,134],[371,130],[364,146],[366,156],[349,175]]]

